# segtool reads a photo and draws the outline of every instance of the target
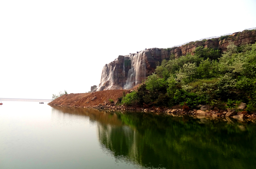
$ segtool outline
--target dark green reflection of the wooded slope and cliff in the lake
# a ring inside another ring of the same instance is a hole
[[[99,122],[100,142],[117,159],[125,157],[145,168],[256,166],[254,123],[229,118],[78,110]]]

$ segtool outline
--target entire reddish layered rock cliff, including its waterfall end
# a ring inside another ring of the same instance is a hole
[[[255,43],[256,30],[244,30],[218,38],[189,42],[185,45],[168,49],[151,48],[125,56],[120,55],[113,62],[103,67],[100,84],[95,91],[130,89],[153,73],[157,62],[161,63],[163,59],[168,60],[171,55],[178,58],[182,55],[192,53],[198,46],[219,49],[223,52],[227,50],[229,41],[235,42],[236,46]]]

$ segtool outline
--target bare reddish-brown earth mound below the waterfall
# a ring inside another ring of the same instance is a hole
[[[129,90],[103,90],[92,93],[66,94],[53,100],[49,105],[70,106],[70,107],[94,107],[103,104],[109,99],[117,101],[118,97],[123,96],[123,92],[129,93]]]

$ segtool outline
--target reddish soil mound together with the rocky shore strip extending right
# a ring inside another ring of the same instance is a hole
[[[175,114],[191,114],[191,115],[200,115],[200,116],[211,116],[211,117],[232,117],[238,120],[252,120],[256,122],[256,114],[247,114],[245,111],[235,111],[235,110],[218,110],[208,108],[206,110],[189,110],[182,109],[182,107],[176,106],[173,108],[166,107],[147,107],[144,105],[141,106],[125,106],[118,105],[118,98],[123,96],[123,93],[127,94],[132,92],[132,90],[103,90],[92,93],[77,93],[77,94],[66,94],[58,97],[53,100],[49,105],[56,106],[65,106],[65,107],[80,107],[80,108],[95,108],[95,109],[109,109],[109,110],[119,110],[119,111],[143,111],[145,113],[155,113],[155,114],[165,114],[172,115]],[[112,99],[114,102],[111,103],[109,99]],[[205,107],[205,106],[204,106]]]

